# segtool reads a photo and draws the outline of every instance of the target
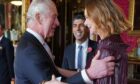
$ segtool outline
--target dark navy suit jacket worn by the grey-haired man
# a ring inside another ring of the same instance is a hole
[[[16,52],[16,84],[39,84],[42,80],[50,80],[52,74],[59,75],[45,48],[32,34],[25,32]],[[81,73],[66,81],[84,83]]]

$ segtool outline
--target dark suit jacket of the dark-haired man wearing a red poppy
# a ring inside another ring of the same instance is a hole
[[[76,44],[71,44],[68,47],[66,47],[62,63],[63,68],[75,70],[75,48]],[[86,64],[88,64],[88,62],[90,62],[90,59],[93,58],[96,52],[97,42],[89,40],[88,48],[92,48],[92,51],[87,53]]]

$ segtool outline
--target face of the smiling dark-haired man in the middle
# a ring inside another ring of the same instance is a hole
[[[85,20],[83,19],[74,19],[73,20],[73,35],[76,39],[76,41],[83,42],[85,41],[89,36],[89,30],[84,25]]]

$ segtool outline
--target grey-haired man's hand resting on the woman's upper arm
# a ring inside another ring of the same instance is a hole
[[[104,59],[100,59],[100,51],[97,52],[92,59],[90,67],[87,69],[87,74],[91,79],[102,78],[114,74],[115,62],[113,56],[108,56]]]

